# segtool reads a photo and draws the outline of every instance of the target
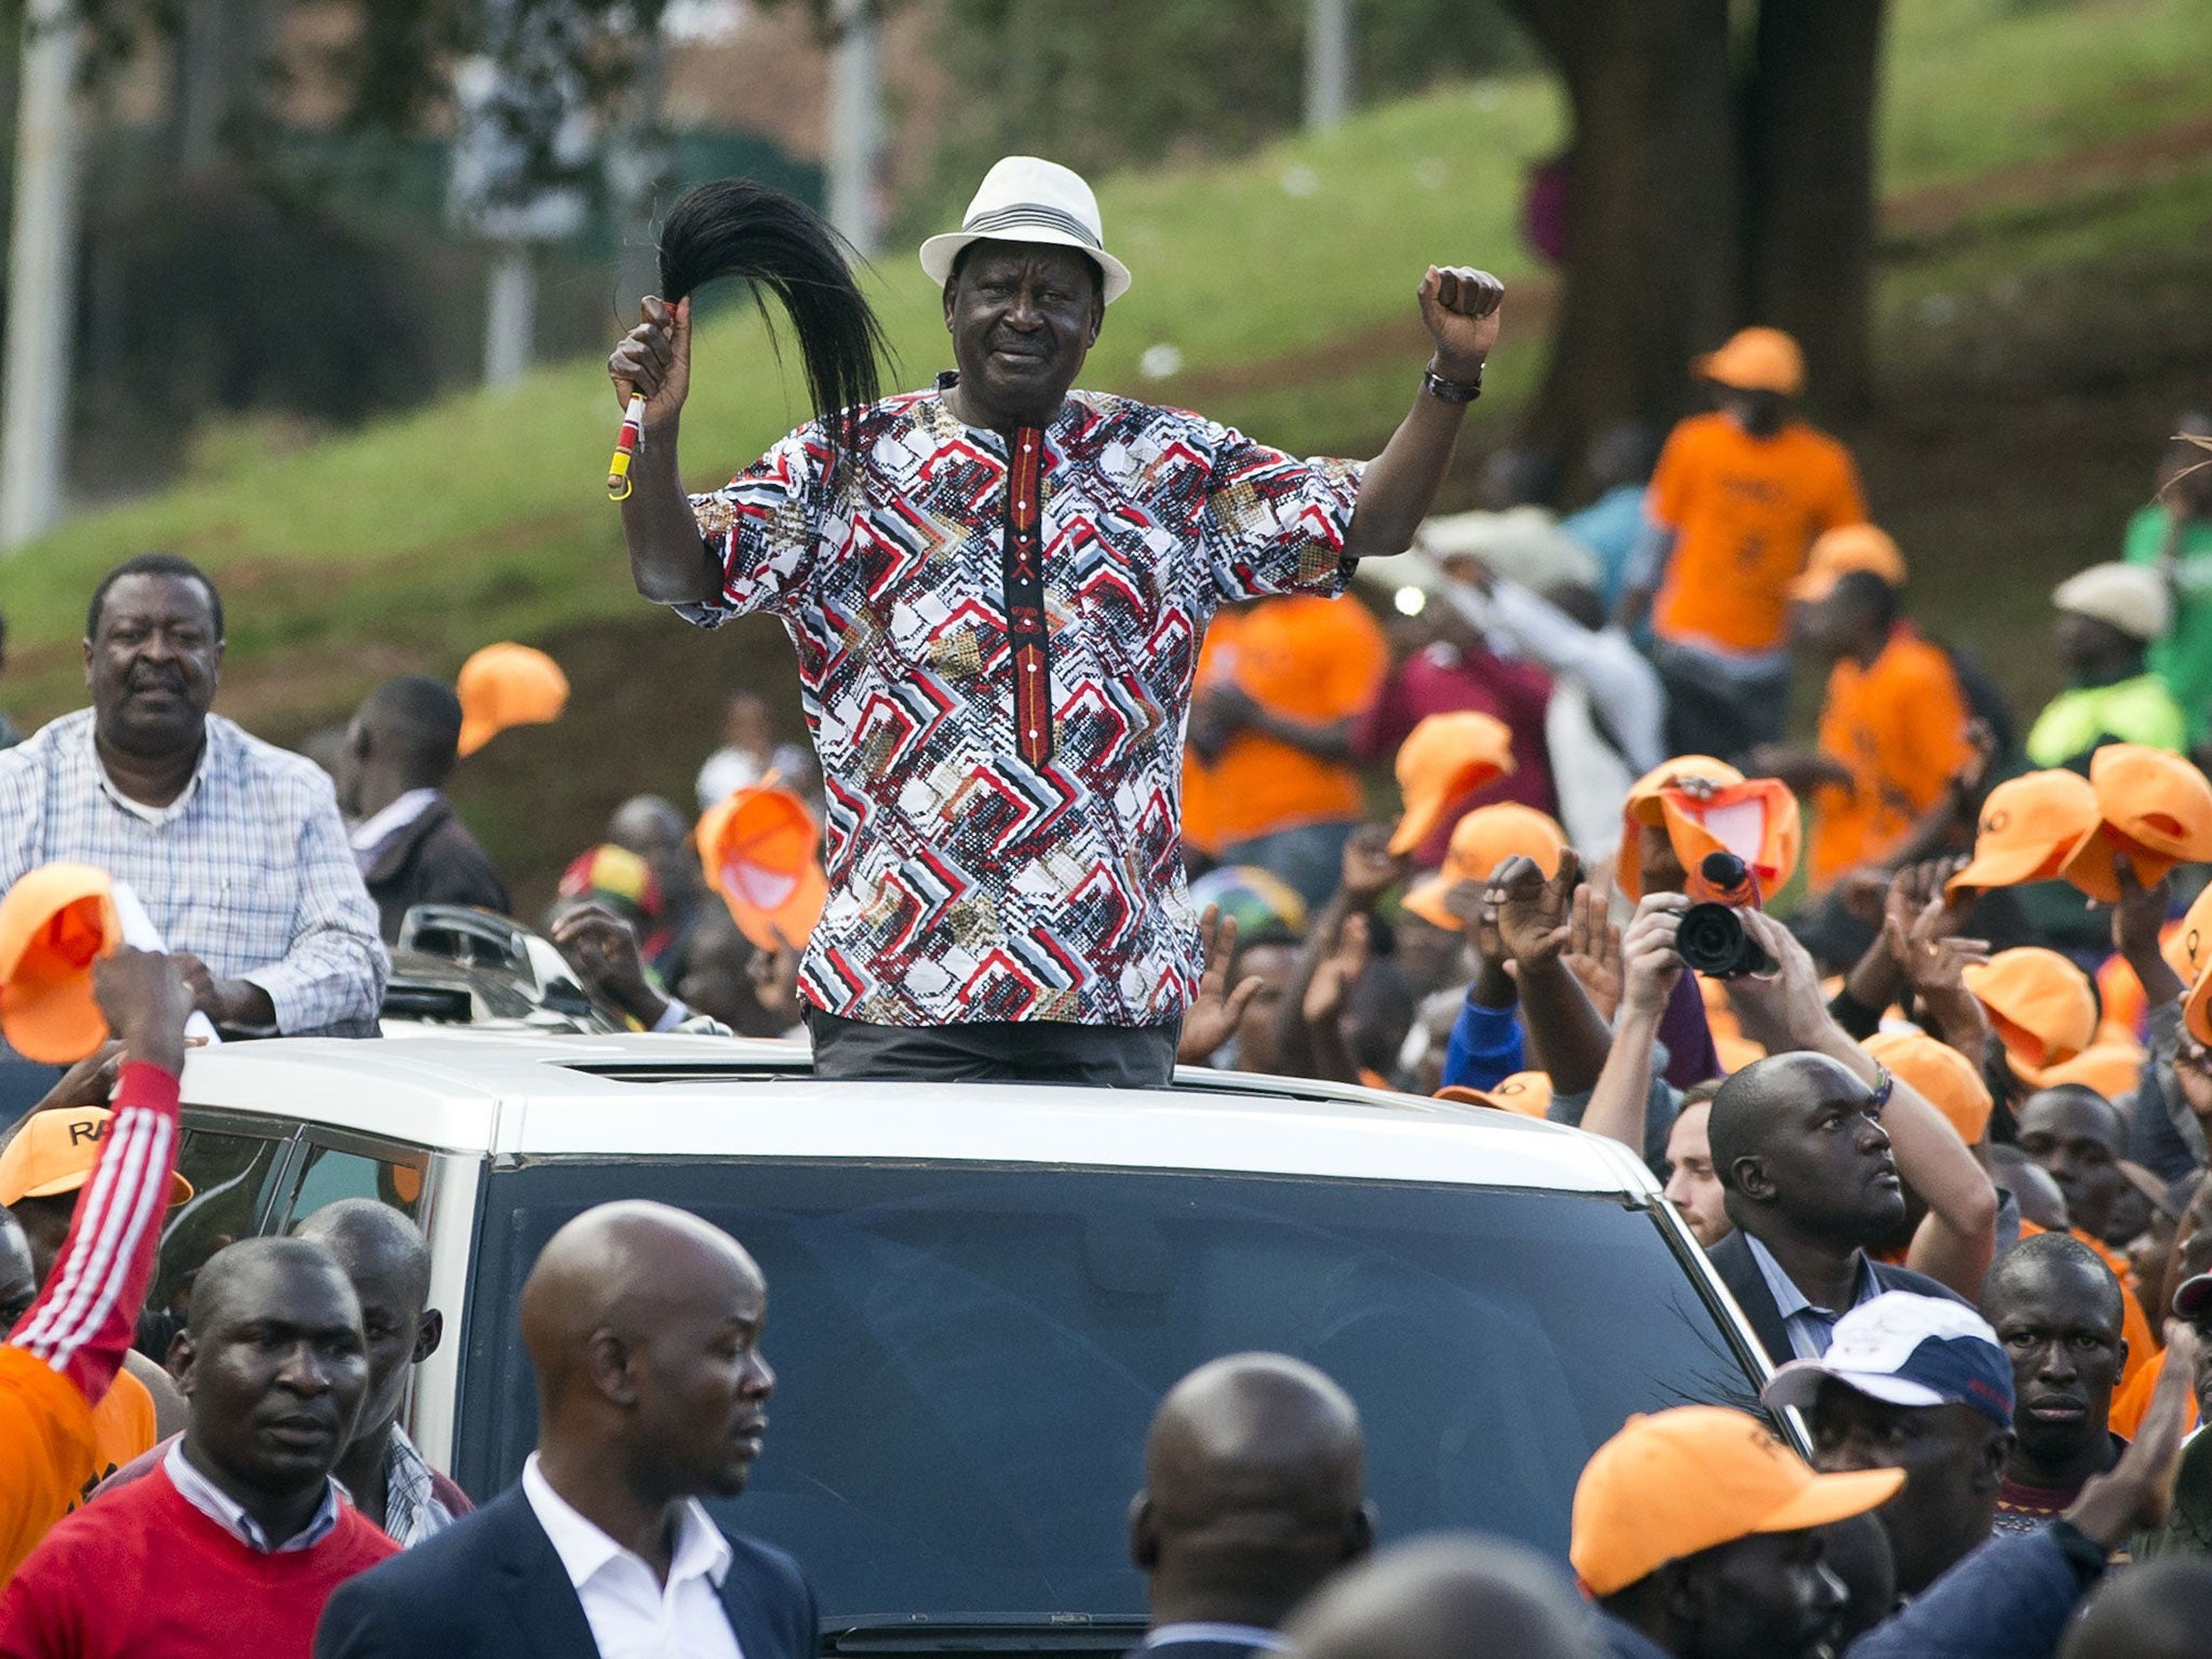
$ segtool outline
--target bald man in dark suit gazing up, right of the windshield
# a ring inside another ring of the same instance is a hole
[[[1774,1365],[1825,1354],[1836,1321],[1885,1290],[1964,1301],[1867,1254],[1905,1219],[1887,1088],[1798,1051],[1745,1066],[1712,1099],[1712,1170],[1736,1230],[1705,1254]]]

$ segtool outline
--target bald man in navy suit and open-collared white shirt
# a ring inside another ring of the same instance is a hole
[[[684,1210],[604,1203],[555,1232],[522,1287],[540,1425],[522,1484],[347,1584],[316,1659],[812,1659],[799,1564],[699,1504],[761,1455],[765,1318],[752,1256]]]

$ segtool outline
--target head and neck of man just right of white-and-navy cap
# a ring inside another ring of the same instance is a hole
[[[2128,1358],[2124,1301],[2112,1272],[2064,1232],[2024,1239],[1989,1270],[1982,1316],[2013,1363],[2015,1440],[1997,1489],[2000,1533],[2033,1533],[2064,1515],[2084,1482],[2128,1449],[2110,1429]]]

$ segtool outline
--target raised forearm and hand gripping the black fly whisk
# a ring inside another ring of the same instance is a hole
[[[677,427],[690,396],[690,299],[668,305],[646,299],[641,316],[606,372],[615,400],[646,398],[630,493],[622,502],[622,540],[630,549],[630,580],[655,604],[708,604],[721,591],[721,568],[710,557],[677,467]]]

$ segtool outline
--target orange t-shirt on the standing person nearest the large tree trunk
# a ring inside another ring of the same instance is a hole
[[[1652,630],[1739,655],[1781,650],[1805,549],[1867,518],[1840,442],[1798,420],[1752,438],[1723,414],[1674,427],[1644,511],[1674,531]]]

